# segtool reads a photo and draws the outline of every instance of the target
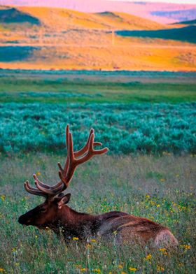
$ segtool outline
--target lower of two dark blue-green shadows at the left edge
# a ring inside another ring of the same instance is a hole
[[[0,62],[22,61],[31,57],[37,47],[8,46],[0,47]]]

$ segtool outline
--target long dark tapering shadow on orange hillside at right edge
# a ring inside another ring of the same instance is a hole
[[[155,31],[116,31],[120,36],[161,38],[166,40],[178,40],[196,43],[196,26],[188,26],[180,29],[160,29]]]

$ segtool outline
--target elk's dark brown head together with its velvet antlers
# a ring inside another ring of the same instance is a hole
[[[91,129],[85,146],[81,150],[73,152],[73,139],[71,132],[69,132],[69,125],[67,125],[67,153],[64,168],[62,168],[61,164],[58,163],[60,181],[53,186],[45,185],[43,182],[38,180],[37,176],[34,174],[36,188],[31,187],[29,181],[25,182],[24,186],[27,192],[43,196],[45,197],[45,201],[44,203],[41,203],[41,205],[36,206],[36,208],[20,216],[18,219],[20,224],[33,225],[40,229],[45,226],[52,228],[61,214],[62,208],[69,202],[71,194],[63,194],[63,191],[69,186],[76,167],[83,164],[85,161],[90,160],[95,155],[104,154],[108,151],[107,147],[101,150],[94,150],[94,146],[96,145],[102,145],[102,143],[94,142],[94,130]]]

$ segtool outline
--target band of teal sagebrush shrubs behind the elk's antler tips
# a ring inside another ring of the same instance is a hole
[[[69,123],[76,149],[94,127],[96,140],[108,146],[112,154],[195,153],[195,106],[195,103],[5,103],[0,105],[0,150],[64,153],[64,128]]]

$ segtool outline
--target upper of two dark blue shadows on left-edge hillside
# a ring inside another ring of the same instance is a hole
[[[3,8],[0,9],[0,22],[1,23],[29,23],[41,24],[40,21],[27,13],[22,13],[16,8]]]

